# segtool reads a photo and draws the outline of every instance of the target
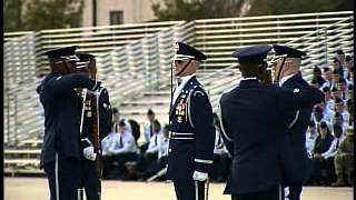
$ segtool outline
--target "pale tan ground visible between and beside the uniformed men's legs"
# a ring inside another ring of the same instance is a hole
[[[222,196],[225,183],[210,183],[210,200],[229,200]],[[44,178],[4,178],[6,200],[48,200]],[[353,188],[305,187],[301,200],[352,200]],[[175,200],[172,183],[103,181],[102,200]]]

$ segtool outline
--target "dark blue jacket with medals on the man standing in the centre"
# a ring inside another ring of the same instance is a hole
[[[191,180],[194,171],[209,172],[215,128],[207,92],[191,77],[171,104],[167,178]]]

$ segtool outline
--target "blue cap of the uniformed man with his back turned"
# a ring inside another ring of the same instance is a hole
[[[239,63],[263,63],[266,61],[271,46],[267,44],[250,46],[236,50],[233,57],[237,58]]]

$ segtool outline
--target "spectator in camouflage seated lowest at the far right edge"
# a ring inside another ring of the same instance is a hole
[[[354,129],[349,127],[346,138],[339,143],[334,160],[337,177],[333,187],[354,186]],[[346,180],[344,178],[346,177]]]

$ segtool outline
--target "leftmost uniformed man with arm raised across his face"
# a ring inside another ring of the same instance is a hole
[[[46,52],[51,72],[38,92],[44,110],[44,138],[40,166],[49,180],[51,200],[76,200],[80,180],[81,99],[75,88],[97,90],[100,82],[77,72],[77,47]]]

